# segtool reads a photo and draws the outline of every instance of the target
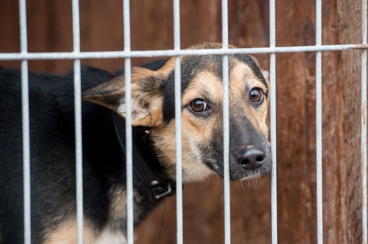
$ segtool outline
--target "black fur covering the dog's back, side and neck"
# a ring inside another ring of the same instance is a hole
[[[154,61],[144,67],[157,70],[166,60]],[[103,70],[82,67],[82,90],[115,76]],[[20,80],[19,70],[0,68],[1,243],[23,242]],[[72,71],[66,75],[29,73],[32,243],[42,243],[43,230],[50,227],[45,224],[56,226],[64,220],[62,217],[66,212],[75,208],[73,94]],[[107,190],[112,184],[125,184],[125,155],[111,118],[112,111],[108,108],[82,102],[84,215],[97,221],[97,229],[102,229],[107,221]],[[160,175],[162,166],[152,153],[149,135],[142,133],[142,130],[144,128],[134,127],[136,148],[145,152],[141,155],[149,158],[146,162],[151,163],[151,169]],[[145,143],[142,143],[142,137]],[[142,219],[160,201],[154,199],[149,189],[136,177],[133,184],[144,197]],[[54,216],[60,218],[54,219]],[[45,223],[45,220],[52,220],[52,223]]]

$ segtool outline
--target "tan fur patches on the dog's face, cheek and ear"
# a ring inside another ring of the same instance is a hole
[[[213,48],[219,48],[220,44],[212,44]],[[198,48],[198,45],[189,49]],[[212,114],[210,119],[203,119],[191,114],[188,110],[183,110],[181,114],[182,120],[182,154],[183,154],[183,182],[193,182],[206,178],[211,171],[204,164],[201,164],[200,153],[195,147],[201,141],[208,141],[213,135],[213,131],[222,121],[222,103],[223,103],[223,85],[222,81],[212,73],[215,63],[208,62],[206,64],[207,71],[199,73],[194,80],[190,82],[187,89],[182,95],[181,105],[188,104],[194,98],[201,98],[204,94],[213,101],[217,110]],[[245,63],[235,58],[229,59],[229,65],[233,67],[229,74],[229,107],[230,110],[237,110],[233,114],[246,114],[252,125],[258,129],[263,135],[267,136],[268,128],[266,126],[267,102],[263,103],[257,109],[254,109],[249,103],[249,97],[244,93],[246,88],[259,87],[267,90],[267,87],[256,77],[252,69]],[[166,170],[170,175],[175,175],[176,148],[175,141],[175,121],[171,121],[165,125],[162,121],[162,103],[163,94],[159,91],[160,82],[165,80],[174,70],[174,58],[170,58],[166,64],[157,71],[144,68],[134,67],[131,71],[131,94],[132,94],[132,125],[142,125],[151,127],[150,133],[155,143],[155,147],[160,149],[160,158],[166,164]],[[147,82],[154,78],[156,84]],[[107,82],[109,83],[109,82]],[[124,97],[124,75],[110,81],[110,84],[102,84],[96,90],[113,90],[107,96],[119,93]],[[152,90],[157,90],[153,92]],[[121,103],[118,107],[111,107],[104,104],[104,95],[85,96],[85,100],[99,103],[106,107],[113,108],[121,116],[125,117],[125,103]],[[221,125],[222,126],[222,125]]]

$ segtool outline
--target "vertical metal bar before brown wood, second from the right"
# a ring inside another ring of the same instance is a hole
[[[322,3],[316,0],[316,45],[322,44]],[[316,52],[316,182],[317,243],[323,243],[322,221],[322,53]]]

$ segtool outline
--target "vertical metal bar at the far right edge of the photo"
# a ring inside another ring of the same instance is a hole
[[[362,44],[367,43],[367,0],[362,0]],[[362,243],[367,244],[367,49],[361,52]]]

